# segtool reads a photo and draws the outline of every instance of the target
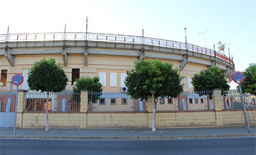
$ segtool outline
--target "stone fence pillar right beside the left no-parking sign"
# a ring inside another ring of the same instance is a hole
[[[22,112],[25,112],[26,100],[25,94],[27,90],[18,90],[18,103],[17,103],[17,116],[16,116],[16,127],[22,127]]]

